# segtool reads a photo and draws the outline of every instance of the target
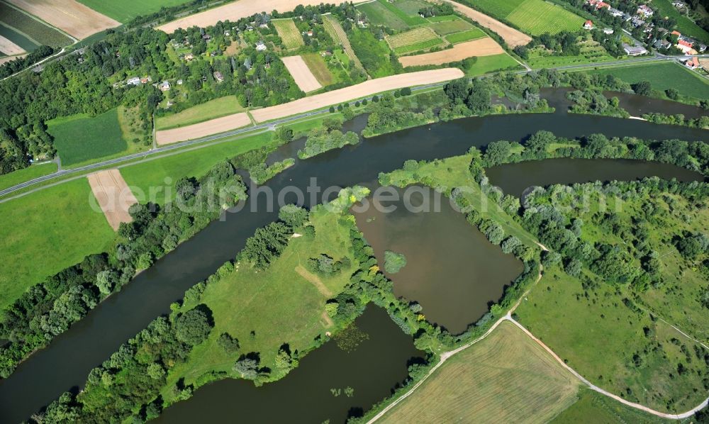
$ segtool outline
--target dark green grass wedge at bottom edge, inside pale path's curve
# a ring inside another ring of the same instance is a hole
[[[623,403],[596,391],[582,388],[579,399],[569,408],[557,415],[552,424],[605,424],[605,423],[676,423],[675,420],[664,420],[655,415],[638,411]]]

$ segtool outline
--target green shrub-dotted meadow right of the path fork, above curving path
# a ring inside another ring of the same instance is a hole
[[[686,411],[699,403],[705,391],[695,371],[705,364],[696,358],[686,362],[681,351],[686,345],[693,356],[695,344],[625,306],[629,294],[620,287],[590,272],[583,278],[596,281],[593,289],[559,269],[545,270],[516,311],[520,323],[570,367],[618,396],[659,411]],[[671,340],[678,337],[675,345]],[[679,362],[691,372],[678,375]]]

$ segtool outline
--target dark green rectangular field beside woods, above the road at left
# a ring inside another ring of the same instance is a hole
[[[72,165],[120,153],[128,149],[118,123],[116,108],[93,118],[79,114],[47,121],[48,133],[62,159]]]

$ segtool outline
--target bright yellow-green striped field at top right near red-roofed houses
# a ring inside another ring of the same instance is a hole
[[[532,35],[576,31],[585,21],[581,16],[544,0],[525,0],[506,19]]]

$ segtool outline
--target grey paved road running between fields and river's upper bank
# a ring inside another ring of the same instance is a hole
[[[616,60],[613,62],[595,62],[595,63],[588,63],[584,65],[566,65],[566,66],[561,66],[561,67],[554,67],[551,69],[557,69],[557,70],[569,70],[569,69],[584,69],[584,68],[593,68],[593,67],[598,67],[598,66],[613,66],[613,65],[627,65],[627,64],[637,64],[639,62],[659,62],[659,61],[673,61],[673,60],[680,60],[684,57],[690,57],[690,56],[665,56],[665,55],[655,55],[653,57],[635,57],[632,59],[627,59],[627,60]],[[696,57],[709,57],[708,55],[696,55]],[[538,69],[536,69],[538,70]],[[525,74],[528,72],[534,72],[535,69],[532,70],[522,70],[519,71],[519,74]],[[423,86],[418,86],[418,87],[413,87],[412,91],[419,91],[423,89],[429,89],[432,87],[442,87],[446,83],[441,82],[437,84],[427,84]],[[371,100],[372,97],[367,97],[368,100]],[[6,196],[7,194],[11,194],[15,191],[25,189],[26,187],[33,186],[35,184],[39,184],[41,182],[47,182],[52,179],[57,179],[59,177],[65,177],[67,175],[71,174],[80,174],[82,172],[88,172],[93,169],[98,169],[101,167],[106,167],[108,165],[112,164],[121,164],[123,162],[128,162],[130,160],[135,160],[135,159],[140,159],[143,157],[148,157],[148,156],[156,156],[160,157],[160,154],[166,153],[166,152],[171,152],[172,150],[176,150],[182,147],[190,146],[190,145],[199,145],[203,143],[208,143],[213,140],[220,140],[222,138],[227,138],[227,137],[233,137],[235,135],[240,135],[243,133],[249,133],[254,130],[259,130],[259,129],[274,129],[276,125],[280,125],[283,123],[288,123],[291,121],[296,121],[301,118],[307,118],[308,116],[315,116],[320,113],[324,113],[325,111],[328,111],[329,108],[322,108],[318,109],[316,111],[310,111],[306,113],[301,113],[299,115],[294,115],[294,116],[289,116],[288,118],[281,118],[276,121],[270,121],[268,123],[260,123],[258,125],[252,125],[250,127],[245,127],[245,128],[239,128],[237,130],[230,130],[225,133],[220,133],[220,134],[215,134],[215,135],[208,135],[207,137],[203,138],[196,138],[194,140],[189,140],[185,141],[182,143],[175,143],[172,145],[167,145],[163,147],[155,147],[152,150],[148,150],[147,152],[140,152],[140,153],[134,153],[133,155],[128,155],[128,156],[123,156],[123,157],[118,157],[116,159],[111,159],[111,160],[105,160],[103,162],[97,162],[95,164],[89,164],[84,167],[78,167],[74,169],[60,169],[59,171],[55,172],[54,174],[49,174],[45,175],[44,177],[38,177],[35,179],[30,179],[30,181],[23,182],[21,184],[17,184],[16,186],[9,187],[7,189],[1,190],[0,191],[0,196]],[[206,147],[205,145],[204,147]],[[0,199],[0,203],[3,203],[4,201],[8,201],[10,199]]]

